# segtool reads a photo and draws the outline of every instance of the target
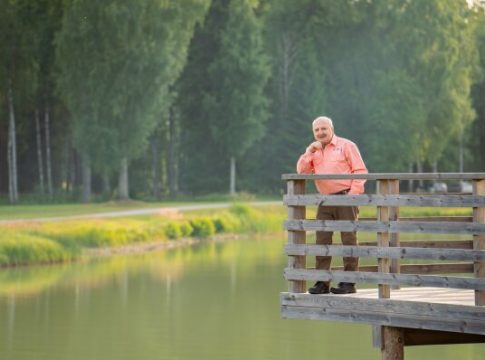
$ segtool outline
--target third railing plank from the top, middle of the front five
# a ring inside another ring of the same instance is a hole
[[[485,234],[485,224],[462,222],[427,221],[330,221],[330,220],[286,220],[285,229],[293,231],[362,231],[390,233],[427,234]]]

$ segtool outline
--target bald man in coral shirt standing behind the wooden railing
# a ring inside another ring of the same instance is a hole
[[[298,174],[366,174],[367,168],[360,156],[359,149],[352,141],[335,135],[332,120],[325,116],[313,121],[313,136],[315,141],[306,148],[300,156],[296,169]],[[321,194],[355,195],[364,192],[365,180],[316,180],[315,186]],[[356,206],[319,206],[319,220],[357,220],[359,209]],[[317,231],[316,243],[332,244],[333,232]],[[344,245],[357,245],[355,232],[341,232]],[[317,256],[316,269],[329,270],[330,256]],[[344,270],[357,271],[359,258],[344,257]],[[338,287],[329,289],[329,283],[317,281],[308,289],[310,294],[355,293],[354,283],[341,282]]]

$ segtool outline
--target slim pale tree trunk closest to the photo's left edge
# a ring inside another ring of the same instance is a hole
[[[15,111],[13,106],[12,81],[8,83],[8,196],[11,204],[18,201],[17,142],[15,131]]]

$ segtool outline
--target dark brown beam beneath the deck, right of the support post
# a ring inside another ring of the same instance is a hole
[[[405,346],[472,343],[485,343],[485,335],[426,329],[404,329]]]

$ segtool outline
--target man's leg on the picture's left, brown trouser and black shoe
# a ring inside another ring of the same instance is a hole
[[[335,207],[329,206],[319,206],[317,210],[318,220],[334,220]],[[317,231],[316,232],[316,243],[318,245],[330,245],[332,244],[333,232],[331,231]],[[315,269],[329,270],[330,263],[332,261],[331,256],[316,256],[315,257]],[[328,281],[317,281],[314,286],[308,289],[310,294],[325,294],[329,292],[329,282]]]

